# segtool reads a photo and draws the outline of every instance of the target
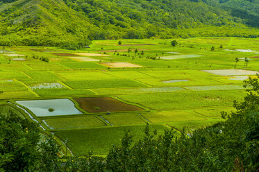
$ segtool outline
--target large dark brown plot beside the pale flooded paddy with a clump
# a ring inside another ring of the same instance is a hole
[[[128,105],[111,97],[87,97],[74,98],[79,106],[90,113],[96,112],[122,112],[122,111],[141,111],[140,107]],[[98,108],[97,108],[98,107]]]

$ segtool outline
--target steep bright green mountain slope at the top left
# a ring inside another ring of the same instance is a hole
[[[1,44],[59,46],[87,44],[89,19],[60,0],[19,0],[0,6]]]

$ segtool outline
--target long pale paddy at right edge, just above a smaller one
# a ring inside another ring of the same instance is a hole
[[[258,71],[248,71],[242,69],[222,69],[222,70],[203,70],[210,74],[219,76],[242,76],[242,75],[256,75]]]

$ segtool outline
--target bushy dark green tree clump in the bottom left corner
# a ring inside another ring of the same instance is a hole
[[[37,123],[19,117],[17,112],[0,114],[0,119],[0,171],[55,169],[59,148],[48,137],[40,141]]]

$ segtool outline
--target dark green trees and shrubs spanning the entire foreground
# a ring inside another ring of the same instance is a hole
[[[259,77],[259,76],[258,76]],[[178,135],[151,132],[133,142],[128,131],[106,158],[58,157],[54,138],[40,141],[36,123],[17,114],[0,115],[0,171],[258,171],[259,83],[244,82],[247,96],[235,112],[213,126]]]

